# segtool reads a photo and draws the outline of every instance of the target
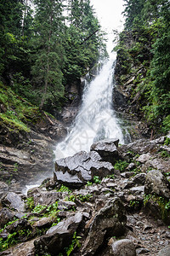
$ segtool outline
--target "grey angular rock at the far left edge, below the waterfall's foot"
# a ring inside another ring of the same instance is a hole
[[[21,198],[21,195],[18,195],[14,192],[8,192],[7,195],[4,195],[1,199],[3,207],[9,207],[18,212],[25,212],[25,203]]]

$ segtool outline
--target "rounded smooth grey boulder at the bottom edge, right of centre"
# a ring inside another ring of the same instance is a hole
[[[121,239],[114,241],[108,251],[105,253],[107,256],[136,256],[136,249],[133,241],[128,239]]]

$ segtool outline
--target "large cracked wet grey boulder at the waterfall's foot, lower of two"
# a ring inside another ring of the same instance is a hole
[[[65,159],[56,160],[54,181],[72,188],[79,188],[94,176],[105,177],[112,174],[111,163],[99,161],[98,154],[81,151]]]

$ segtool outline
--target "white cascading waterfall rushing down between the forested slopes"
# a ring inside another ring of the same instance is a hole
[[[59,143],[55,150],[56,159],[89,151],[90,146],[104,138],[119,138],[124,142],[122,129],[112,107],[113,74],[115,60],[106,61],[96,78],[86,84],[82,107],[71,126],[65,141]]]

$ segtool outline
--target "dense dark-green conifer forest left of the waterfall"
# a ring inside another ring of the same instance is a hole
[[[89,0],[1,1],[0,24],[1,92],[6,85],[49,113],[66,101],[65,85],[106,55]]]

